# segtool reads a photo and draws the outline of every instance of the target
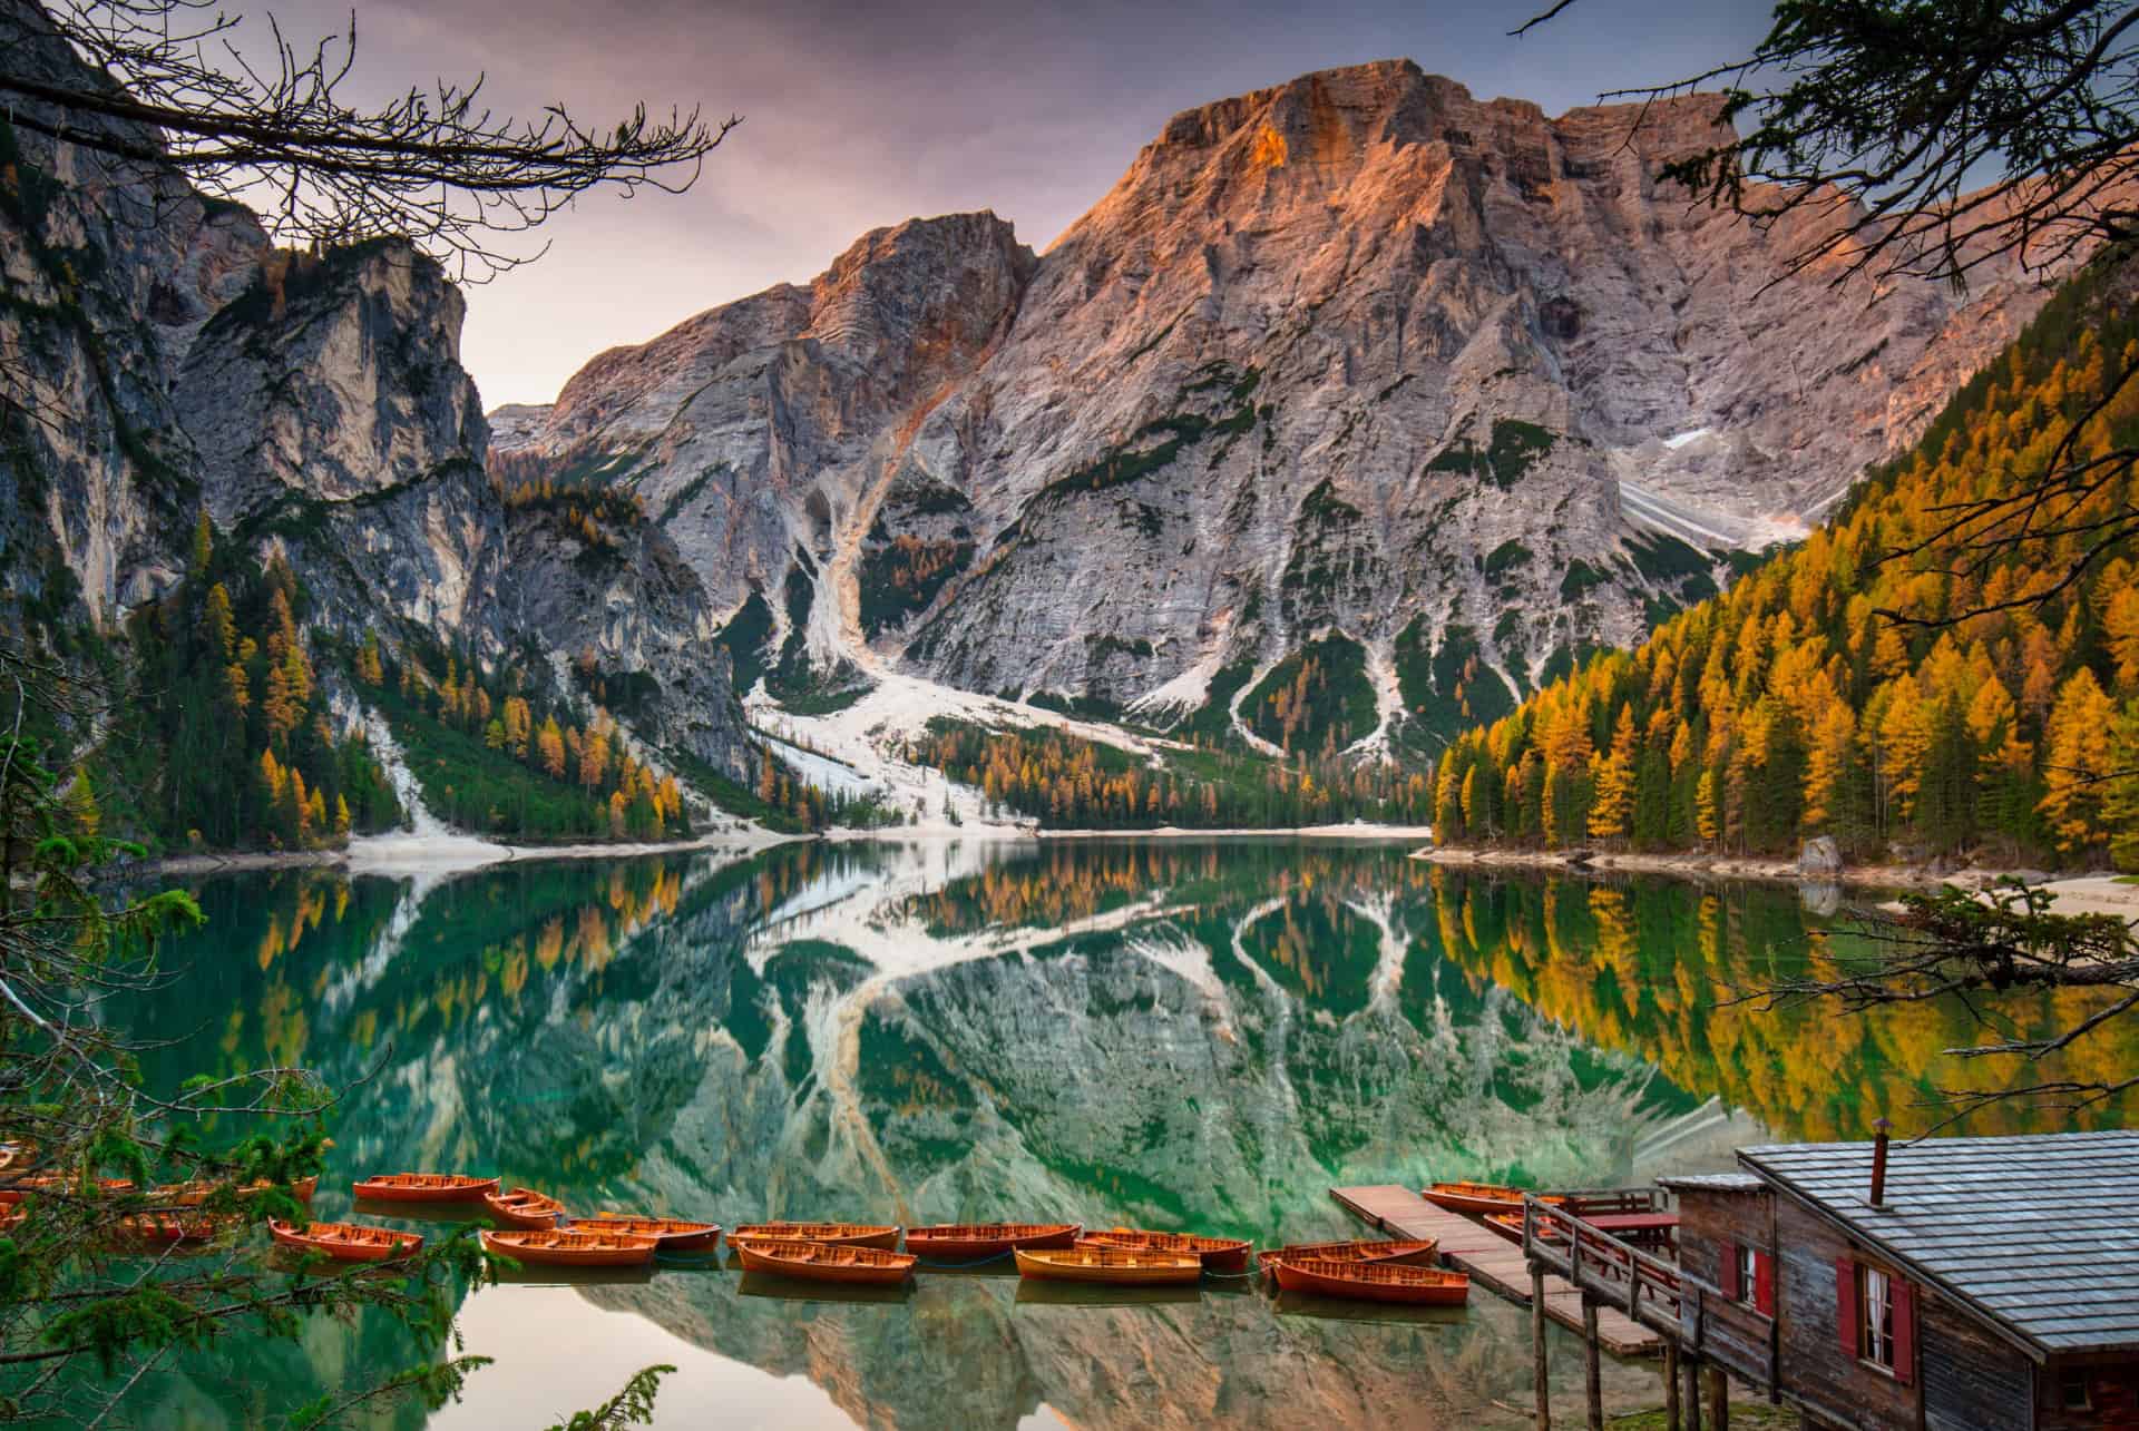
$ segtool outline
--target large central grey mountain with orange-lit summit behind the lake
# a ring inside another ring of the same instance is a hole
[[[1363,749],[1431,747],[1801,533],[2041,302],[1788,274],[1810,229],[1662,178],[1713,116],[1307,75],[1176,116],[1037,259],[871,233],[496,441],[640,492],[819,678],[1224,721],[1313,648]]]

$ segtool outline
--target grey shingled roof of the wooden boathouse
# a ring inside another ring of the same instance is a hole
[[[2139,1132],[1741,1149],[1739,1161],[1844,1224],[1912,1279],[2036,1358],[2139,1348]]]

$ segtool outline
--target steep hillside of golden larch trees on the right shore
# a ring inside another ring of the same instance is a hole
[[[2139,443],[2139,385],[2115,391],[2139,364],[2135,289],[2139,263],[2098,261],[1803,545],[1461,736],[1437,834],[1730,851],[1831,834],[1850,853],[2139,868],[2139,776],[2118,774],[2139,770],[2135,552],[2062,584],[2139,501],[2128,466],[2098,468],[2043,541],[1891,556],[2066,436],[2079,458]]]

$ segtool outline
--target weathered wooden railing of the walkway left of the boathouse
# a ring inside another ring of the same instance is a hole
[[[1598,1211],[1587,1194],[1576,1206]],[[1649,1211],[1649,1209],[1604,1209]],[[1726,1367],[1752,1386],[1775,1386],[1775,1318],[1722,1288],[1594,1228],[1566,1204],[1523,1198],[1523,1258],[1579,1292],[1671,1337],[1681,1352]]]

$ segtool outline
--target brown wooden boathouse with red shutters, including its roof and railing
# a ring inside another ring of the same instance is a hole
[[[2139,1427],[2139,1132],[1801,1142],[1737,1164],[1660,1179],[1677,1266],[1534,1200],[1525,1253],[1666,1330],[1688,1392],[1707,1369],[1711,1392],[1728,1373],[1810,1427]]]

